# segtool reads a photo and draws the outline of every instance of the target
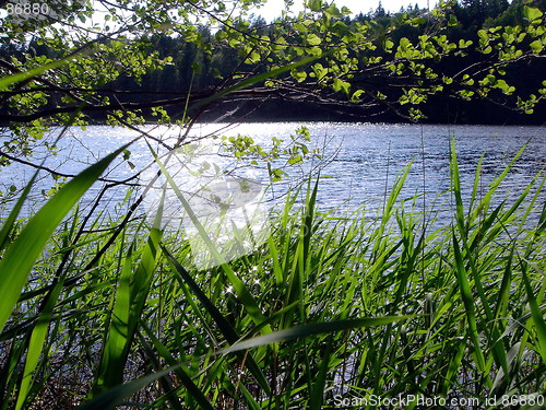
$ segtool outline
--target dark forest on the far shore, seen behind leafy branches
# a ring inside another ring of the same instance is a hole
[[[523,8],[532,5],[539,10],[546,10],[546,0],[514,0],[511,3],[508,0],[462,0],[453,2],[446,16],[448,21],[444,34],[449,42],[461,44],[461,42],[480,42],[478,32],[482,30],[495,30],[497,26],[523,26],[527,24]],[[259,11],[258,11],[259,12]],[[420,38],[431,30],[427,22],[430,11],[420,9],[417,4],[402,8],[399,12],[387,12],[381,3],[375,11],[369,13],[359,13],[356,15],[345,15],[339,17],[340,27],[354,27],[355,25],[366,24],[373,31],[376,38],[387,44],[392,49],[400,47],[401,40],[410,40],[410,44],[419,44]],[[412,21],[415,24],[401,24],[401,22]],[[268,23],[260,15],[251,14],[248,19],[238,19],[233,22],[232,28],[252,33],[253,36],[278,37],[280,32],[285,31],[283,38],[290,42],[290,27],[285,25],[283,20],[278,19]],[[225,35],[225,26],[219,30],[207,25],[195,25],[186,36],[170,34],[168,31],[158,31],[153,34],[144,35],[140,38],[146,49],[146,52],[156,52],[157,57],[167,61],[162,67],[143,72],[141,75],[121,74],[114,81],[99,84],[103,94],[115,97],[120,103],[134,103],[135,106],[150,101],[161,101],[162,98],[173,98],[174,95],[200,93],[213,93],[221,90],[230,81],[244,78],[245,75],[257,74],[266,70],[260,56],[253,56],[253,51],[241,49],[240,52],[234,52],[233,44],[222,45]],[[344,30],[344,28],[341,28]],[[311,34],[312,35],[312,34]],[[518,35],[518,33],[515,33]],[[293,39],[296,42],[296,39]],[[524,43],[524,42],[523,42]],[[471,44],[471,43],[468,43]],[[377,49],[371,57],[369,50],[355,51],[356,58],[388,58],[389,46],[385,49]],[[48,45],[33,38],[24,47],[17,47],[12,44],[3,44],[0,50],[4,60],[11,56],[24,60],[25,56],[45,56],[48,59],[59,57],[59,51],[54,50]],[[245,55],[248,54],[248,55]],[[368,56],[368,57],[367,57]],[[116,56],[112,57],[115,59]],[[464,70],[465,67],[485,63],[488,61],[488,54],[470,50],[464,58],[464,65],[461,59],[447,57],[437,62],[440,71],[456,73],[458,70]],[[518,90],[518,95],[533,93],[533,90],[539,87],[546,72],[544,59],[533,61],[524,60],[521,65],[511,65],[510,69],[503,72],[506,83],[513,84]],[[319,60],[320,61],[320,60]],[[378,60],[379,61],[379,60]],[[397,73],[400,74],[400,72]],[[301,73],[295,72],[296,80],[305,87],[306,79],[298,78]],[[360,81],[358,78],[355,82]],[[370,87],[384,99],[397,97],[400,89],[405,86],[403,75],[397,78],[373,79],[363,78],[361,82],[369,82]],[[418,82],[417,82],[418,84]],[[343,87],[342,87],[343,89]],[[499,87],[500,89],[500,87]],[[111,93],[110,93],[111,91]],[[465,95],[464,91],[451,93],[449,83],[446,83],[446,91],[431,93],[427,101],[420,104],[423,112],[420,120],[429,122],[450,122],[450,124],[543,124],[546,110],[542,102],[531,108],[525,108],[524,102],[517,101],[517,96],[507,90],[500,90],[506,95],[490,98],[488,95]],[[312,95],[302,97],[289,90],[283,92],[277,90],[276,94],[269,94],[262,97],[259,93],[247,93],[245,95],[223,98],[222,102],[207,105],[199,112],[192,110],[201,120],[359,120],[359,121],[404,121],[410,120],[410,116],[404,110],[397,110],[391,104],[384,104],[375,109],[363,109],[363,106],[353,104],[351,95],[344,95],[343,90],[322,101],[316,101]],[[476,97],[477,96],[477,97]],[[531,94],[535,97],[535,94]],[[412,96],[413,98],[413,96]],[[400,101],[400,99],[399,99]],[[410,101],[410,98],[408,98]],[[56,106],[58,101],[50,97],[48,105]],[[412,102],[413,104],[413,102]],[[141,110],[143,118],[157,120],[162,113],[171,115],[180,112],[180,102],[177,106],[163,108],[145,107]],[[513,109],[519,107],[520,109]],[[366,108],[369,108],[366,106]],[[7,113],[5,107],[1,112]],[[522,115],[526,112],[527,115]],[[95,121],[107,119],[106,114],[90,113],[90,118]],[[169,118],[168,116],[164,116]]]

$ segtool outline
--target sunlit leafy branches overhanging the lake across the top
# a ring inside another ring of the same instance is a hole
[[[365,110],[395,107],[406,117],[432,109],[431,95],[486,97],[522,113],[543,98],[541,63],[525,83],[519,74],[544,55],[541,1],[446,2],[431,13],[378,9],[353,19],[344,8],[312,1],[298,15],[265,24],[216,0],[147,0],[120,8],[110,2],[104,25],[92,24],[91,4],[75,3],[80,7],[62,9],[61,24],[2,20],[4,33],[11,33],[1,40],[8,57],[0,65],[11,84],[2,86],[9,94],[0,114],[14,137],[4,141],[8,152],[27,155],[50,122],[62,124],[78,109],[74,122],[81,125],[105,118],[111,125],[169,122],[180,119],[185,105],[199,118],[203,101],[212,104],[206,96],[225,90],[230,90],[225,98],[253,99],[290,90],[296,99]],[[317,61],[264,79],[265,89],[245,83],[307,57]],[[486,72],[499,80],[497,86],[482,81]],[[407,104],[412,94],[419,97]]]

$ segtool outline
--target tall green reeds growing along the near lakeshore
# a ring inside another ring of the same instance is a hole
[[[64,218],[106,162],[2,236],[1,409],[320,409],[371,394],[487,408],[546,390],[544,177],[494,204],[510,169],[478,195],[478,167],[465,201],[453,147],[439,229],[403,206],[410,167],[371,221],[321,212],[310,181],[253,254],[200,271],[161,210],[116,241],[119,221]]]

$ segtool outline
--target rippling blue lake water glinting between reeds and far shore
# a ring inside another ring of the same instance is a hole
[[[452,212],[452,198],[441,194],[450,187],[449,152],[450,142],[454,138],[460,164],[463,195],[470,195],[474,181],[476,165],[483,155],[483,189],[498,176],[509,164],[518,151],[529,144],[499,191],[503,198],[513,200],[532,178],[546,166],[546,129],[542,127],[502,127],[502,126],[418,126],[418,125],[370,125],[337,122],[273,122],[242,124],[228,127],[227,124],[197,125],[189,138],[204,138],[207,134],[237,136],[247,134],[271,147],[271,138],[289,140],[289,136],[301,126],[309,128],[311,148],[323,151],[324,160],[305,162],[287,169],[289,174],[283,181],[275,184],[273,195],[278,196],[287,189],[294,189],[298,180],[308,176],[312,169],[320,168],[324,180],[319,187],[321,209],[337,209],[349,212],[366,204],[369,214],[375,214],[385,191],[390,190],[395,176],[410,163],[413,163],[410,176],[401,198],[426,195],[427,209],[439,213],[439,220],[448,220]],[[143,127],[157,141],[174,143],[181,130],[173,127]],[[55,140],[58,130],[47,137]],[[58,142],[56,157],[47,157],[43,149],[35,152],[33,162],[44,162],[44,166],[62,174],[75,174],[87,164],[104,157],[123,143],[135,138],[138,132],[106,126],[92,126],[86,130],[72,128]],[[152,141],[159,152],[162,144]],[[126,179],[151,163],[151,153],[143,140],[135,142],[130,149],[129,161],[114,164],[106,178],[110,180]],[[228,161],[228,160],[222,160]],[[280,160],[277,163],[284,163]],[[253,169],[251,176],[266,183],[265,166]],[[1,169],[0,190],[7,191],[11,185],[22,188],[28,180],[33,169],[29,166],[15,164]],[[138,179],[131,180],[136,183]],[[24,212],[34,212],[44,201],[43,190],[47,191],[54,179],[43,174],[43,178],[33,190]],[[90,204],[100,186],[95,185],[84,200]],[[104,207],[114,212],[115,206],[126,196],[123,189],[112,189]],[[546,198],[542,195],[541,200]],[[417,201],[422,207],[422,199]],[[2,212],[5,215],[5,210]]]

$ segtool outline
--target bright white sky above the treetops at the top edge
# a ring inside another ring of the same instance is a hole
[[[429,0],[430,7],[437,3],[437,0]],[[370,10],[376,10],[379,5],[379,0],[335,0],[335,3],[341,9],[345,5],[353,13],[358,14],[359,12],[367,13]],[[296,10],[301,10],[302,0],[294,0],[294,7]],[[419,4],[420,8],[427,7],[427,0],[381,0],[383,9],[387,11],[396,12],[401,7],[407,7],[410,4]],[[299,5],[299,7],[298,7]],[[270,21],[275,16],[281,15],[281,10],[284,8],[284,0],[268,0],[268,3],[256,11],[256,14],[262,15],[265,20]]]

